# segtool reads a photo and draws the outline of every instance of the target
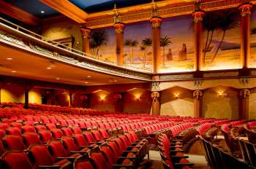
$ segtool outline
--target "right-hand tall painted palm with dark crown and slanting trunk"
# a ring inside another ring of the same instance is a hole
[[[219,49],[222,46],[227,30],[238,27],[239,25],[238,19],[239,19],[238,12],[234,10],[226,10],[219,13],[218,28],[219,30],[222,31],[222,39],[219,42],[219,45],[217,47],[217,51],[214,54],[214,57],[211,59],[211,63],[214,62],[214,59],[216,58],[217,53],[219,52]]]

